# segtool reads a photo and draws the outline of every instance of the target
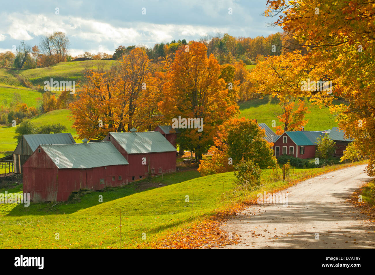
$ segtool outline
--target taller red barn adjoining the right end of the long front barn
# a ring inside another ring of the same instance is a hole
[[[158,131],[130,133],[110,132],[103,141],[111,141],[129,162],[129,182],[147,175],[176,171],[176,149]]]

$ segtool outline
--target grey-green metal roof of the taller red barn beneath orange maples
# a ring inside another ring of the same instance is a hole
[[[128,154],[171,152],[176,149],[159,132],[114,133],[110,135]]]

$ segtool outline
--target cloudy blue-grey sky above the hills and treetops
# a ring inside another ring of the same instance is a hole
[[[146,45],[175,39],[199,40],[207,33],[267,36],[280,29],[262,14],[266,0],[68,0],[2,1],[0,52],[20,40],[38,45],[40,35],[63,31],[73,56],[113,53],[119,45]],[[229,15],[229,8],[233,14]],[[145,14],[142,14],[143,13]]]

